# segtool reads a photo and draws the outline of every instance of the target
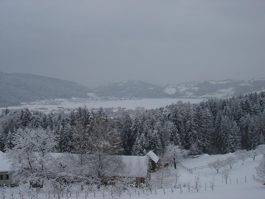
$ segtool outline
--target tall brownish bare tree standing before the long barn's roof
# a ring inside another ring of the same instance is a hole
[[[112,129],[104,119],[98,119],[94,123],[92,132],[88,137],[90,151],[90,167],[93,174],[100,180],[104,180],[106,174],[115,171],[120,166],[118,155],[123,152],[120,135],[116,129]]]

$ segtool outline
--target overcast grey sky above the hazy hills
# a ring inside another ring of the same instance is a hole
[[[265,1],[0,0],[0,71],[94,87],[265,77]]]

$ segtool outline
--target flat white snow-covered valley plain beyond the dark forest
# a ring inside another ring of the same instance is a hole
[[[61,105],[41,105],[41,104],[36,104],[36,105],[22,105],[22,106],[10,106],[8,107],[9,109],[23,109],[27,107],[29,110],[34,109],[34,108],[48,108],[48,110],[44,111],[51,111],[52,109],[57,109],[57,107],[63,106],[64,109],[72,109],[72,108],[77,108],[80,106],[86,105],[88,108],[117,108],[118,106],[120,107],[125,107],[126,109],[135,109],[137,106],[144,107],[145,109],[155,109],[159,108],[161,106],[166,106],[170,105],[171,103],[176,103],[177,101],[181,100],[183,102],[191,102],[191,103],[198,103],[203,101],[203,99],[173,99],[173,98],[160,98],[160,99],[139,99],[139,100],[118,100],[118,101],[91,101],[91,102],[71,102],[66,99],[59,99],[63,100]],[[0,110],[5,109],[5,107],[0,107]]]

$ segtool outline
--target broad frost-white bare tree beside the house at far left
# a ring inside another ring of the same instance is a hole
[[[30,181],[43,187],[55,162],[50,154],[56,144],[53,132],[42,128],[25,128],[18,129],[14,135],[14,147],[6,151],[14,181]]]

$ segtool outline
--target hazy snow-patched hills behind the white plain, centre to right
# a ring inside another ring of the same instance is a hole
[[[98,96],[142,98],[224,98],[265,90],[265,79],[210,80],[159,86],[143,81],[126,80],[94,89]]]

